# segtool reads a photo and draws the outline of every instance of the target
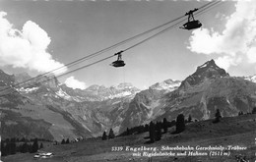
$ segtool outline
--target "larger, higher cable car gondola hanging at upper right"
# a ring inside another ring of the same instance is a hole
[[[188,15],[188,22],[185,23],[183,25],[183,27],[180,27],[180,28],[189,30],[189,29],[195,29],[195,28],[202,27],[202,24],[198,20],[195,20],[194,16],[193,16],[193,13],[197,10],[198,9],[190,10],[188,13],[185,14],[185,16]]]

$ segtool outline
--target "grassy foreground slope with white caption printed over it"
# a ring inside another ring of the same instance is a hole
[[[211,146],[223,146],[223,151],[229,153],[229,156],[162,156],[153,157],[153,161],[171,161],[187,162],[187,161],[207,161],[207,162],[232,162],[235,161],[235,156],[241,154],[246,156],[247,160],[255,160],[256,146],[254,144],[254,137],[256,135],[256,115],[242,115],[238,117],[226,117],[218,124],[213,124],[213,120],[201,121],[191,123],[186,126],[186,130],[178,135],[172,135],[171,133],[175,128],[169,128],[168,132],[162,135],[161,140],[155,143],[146,144],[149,133],[141,135],[128,135],[120,136],[114,139],[102,141],[100,138],[87,139],[80,142],[64,144],[64,145],[52,145],[44,148],[45,151],[53,152],[55,156],[50,159],[40,159],[42,161],[149,161],[149,157],[146,156],[133,156],[133,152],[140,151],[111,151],[113,146],[130,146],[138,148],[145,146],[148,148],[156,147],[160,151],[162,146],[166,147],[208,147]],[[232,150],[227,150],[228,145],[232,146]],[[235,146],[246,147],[245,150],[234,150]],[[151,152],[151,151],[146,151]],[[182,152],[182,151],[172,151]],[[199,150],[198,152],[207,152]],[[183,151],[184,153],[184,151]],[[34,161],[32,159],[33,154],[18,154],[3,158],[5,162],[9,161]]]

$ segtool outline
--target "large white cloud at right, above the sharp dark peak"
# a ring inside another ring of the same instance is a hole
[[[217,62],[225,68],[237,66],[241,60],[256,63],[256,1],[237,1],[235,11],[225,19],[223,31],[193,30],[187,48],[198,54],[220,55]]]

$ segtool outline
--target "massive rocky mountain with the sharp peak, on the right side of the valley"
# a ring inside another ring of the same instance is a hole
[[[214,60],[199,66],[173,91],[161,93],[158,89],[161,88],[149,88],[136,94],[129,103],[121,132],[126,127],[164,117],[175,120],[180,113],[186,118],[191,115],[193,119],[207,120],[214,118],[216,109],[220,109],[223,116],[236,116],[239,111],[250,112],[256,103],[256,84],[229,77]]]

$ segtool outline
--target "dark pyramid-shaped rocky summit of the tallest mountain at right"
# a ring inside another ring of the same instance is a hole
[[[198,84],[206,79],[215,79],[229,77],[228,73],[224,69],[218,67],[215,61],[212,59],[207,61],[203,65],[197,67],[197,70],[194,74],[182,81],[182,85],[189,83],[190,85]]]

